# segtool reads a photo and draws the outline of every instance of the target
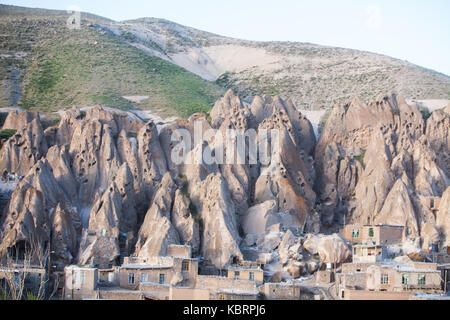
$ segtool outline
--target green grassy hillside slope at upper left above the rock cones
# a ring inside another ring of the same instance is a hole
[[[7,35],[1,39],[0,51],[27,53],[21,59],[24,109],[51,112],[99,104],[187,117],[207,112],[223,94],[216,84],[86,21],[80,30],[70,30],[67,17],[13,17],[0,16],[0,34]],[[6,63],[2,59],[2,74]],[[123,96],[149,99],[137,104]]]

